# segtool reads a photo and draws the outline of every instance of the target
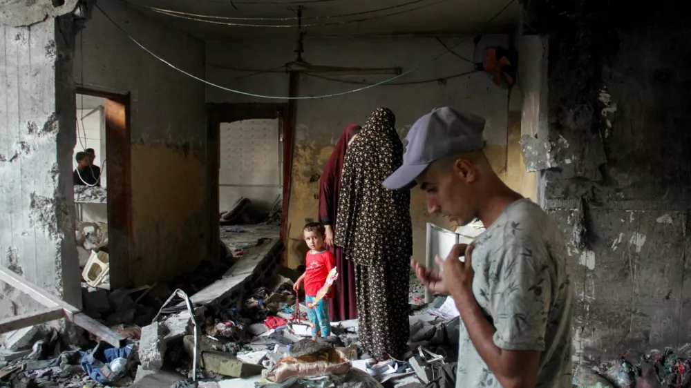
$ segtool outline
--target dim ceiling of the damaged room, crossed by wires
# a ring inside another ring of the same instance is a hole
[[[211,40],[245,37],[287,37],[297,34],[296,18],[302,8],[306,38],[330,36],[477,34],[513,32],[520,6],[511,0],[120,0],[192,35]],[[177,16],[156,12],[161,8]],[[385,8],[382,10],[382,8]],[[376,12],[370,12],[378,10]],[[337,17],[348,14],[350,16]],[[196,15],[211,15],[214,19]],[[224,17],[236,19],[222,19]],[[240,19],[258,18],[258,19]],[[274,18],[274,20],[268,19]],[[203,19],[213,21],[197,21]],[[227,25],[283,25],[285,28]],[[314,26],[317,25],[317,26]]]

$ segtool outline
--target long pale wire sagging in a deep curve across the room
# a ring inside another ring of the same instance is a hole
[[[515,3],[515,1],[517,1],[517,0],[511,0],[511,1],[509,1],[509,3],[507,3],[506,6],[504,6],[501,10],[499,10],[496,14],[494,14],[493,17],[491,17],[489,20],[487,20],[487,21],[482,25],[482,27],[480,28],[480,30],[479,30],[475,35],[473,35],[473,36],[481,35],[482,32],[484,32],[484,30],[487,28],[487,26],[489,26],[489,24],[492,23],[492,21],[494,21],[497,17],[499,17],[500,14],[502,14],[504,11],[506,11],[506,10],[509,8],[509,6],[511,6],[511,4]],[[265,99],[322,99],[322,98],[327,98],[327,97],[338,97],[338,96],[342,96],[342,95],[348,95],[348,94],[351,94],[351,93],[357,93],[357,92],[359,92],[359,91],[361,91],[361,90],[367,90],[367,89],[370,89],[370,88],[374,88],[374,87],[379,86],[379,85],[387,84],[388,82],[394,81],[395,79],[399,79],[399,78],[401,78],[401,77],[404,77],[405,75],[408,75],[408,74],[410,74],[411,72],[414,72],[414,71],[418,70],[419,68],[422,68],[422,66],[424,66],[424,65],[426,65],[426,64],[430,64],[430,63],[432,63],[433,61],[436,61],[437,59],[443,57],[444,55],[446,55],[446,54],[449,52],[449,50],[445,50],[445,51],[442,52],[441,54],[436,55],[435,57],[432,57],[432,58],[430,58],[430,59],[428,59],[428,60],[426,60],[426,61],[422,61],[422,62],[420,62],[419,64],[417,64],[417,66],[411,68],[410,70],[407,70],[407,71],[405,71],[405,72],[402,72],[401,74],[396,75],[395,77],[390,77],[390,78],[388,78],[388,79],[384,79],[384,81],[379,81],[379,82],[377,82],[376,84],[372,84],[372,85],[368,85],[368,86],[363,86],[362,88],[357,88],[357,89],[354,89],[354,90],[346,90],[345,92],[341,92],[341,93],[332,93],[332,94],[330,94],[330,95],[320,95],[320,96],[299,96],[299,97],[258,95],[258,94],[256,94],[256,93],[247,93],[247,92],[243,92],[242,90],[235,90],[235,89],[231,89],[231,88],[225,88],[224,86],[220,86],[220,85],[218,85],[218,84],[214,84],[213,82],[209,82],[209,81],[207,81],[206,79],[202,79],[202,78],[200,78],[200,77],[197,77],[196,75],[193,75],[193,74],[191,74],[191,73],[189,73],[189,72],[187,72],[187,71],[185,71],[185,70],[182,70],[182,69],[176,67],[175,65],[171,64],[169,61],[166,61],[165,59],[159,57],[158,55],[155,55],[154,52],[152,52],[151,50],[149,50],[148,48],[146,48],[145,46],[143,46],[142,43],[139,43],[139,41],[137,41],[137,39],[134,39],[131,35],[129,35],[129,34],[127,33],[127,31],[125,31],[122,27],[120,27],[119,24],[115,23],[115,21],[114,21],[108,14],[106,14],[106,12],[104,12],[104,10],[102,10],[102,8],[101,8],[98,4],[95,4],[95,8],[97,8],[98,10],[100,10],[100,11],[102,12],[102,14],[104,15],[104,17],[106,17],[106,19],[108,19],[108,21],[110,21],[111,23],[113,23],[113,26],[115,26],[115,28],[117,28],[118,30],[120,30],[128,39],[130,39],[131,41],[133,41],[133,43],[135,43],[137,46],[139,46],[140,48],[142,48],[142,50],[148,52],[149,55],[155,57],[155,58],[158,59],[159,61],[162,61],[164,64],[166,64],[167,66],[170,66],[170,67],[173,68],[174,70],[178,70],[178,72],[181,72],[182,74],[187,75],[188,77],[191,77],[191,78],[193,78],[193,79],[196,79],[197,81],[203,82],[204,84],[207,84],[207,85],[209,85],[209,86],[213,86],[213,87],[219,88],[219,89],[221,89],[221,90],[226,90],[227,92],[236,93],[236,94],[239,94],[239,95],[246,95],[246,96],[249,96],[249,97],[265,98]],[[455,46],[452,46],[452,47],[451,47],[451,50],[453,50],[453,49],[455,49],[455,48],[461,46],[461,45],[462,45],[463,43],[465,43],[467,40],[468,40],[468,39],[463,39],[462,41],[460,41],[459,43],[457,43]]]

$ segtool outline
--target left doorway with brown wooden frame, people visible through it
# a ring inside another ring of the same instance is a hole
[[[117,289],[129,281],[126,266],[132,235],[129,95],[78,88],[75,100],[73,184],[79,265],[83,271],[86,268],[83,280],[91,287]]]

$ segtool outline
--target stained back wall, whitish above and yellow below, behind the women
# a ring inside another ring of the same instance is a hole
[[[455,45],[458,37],[444,37],[445,43]],[[492,45],[507,46],[506,36],[485,37],[480,48]],[[370,38],[370,39],[307,39],[303,57],[312,64],[354,67],[395,67],[408,70],[422,61],[439,55],[444,48],[430,37]],[[468,40],[457,52],[473,57],[473,43]],[[295,59],[293,39],[254,40],[207,43],[207,79],[225,87],[274,96],[287,96],[288,76],[280,67]],[[270,69],[253,77],[247,72],[218,68]],[[411,75],[396,81],[418,81],[455,75],[472,70],[466,61],[445,55]],[[380,81],[387,76],[349,76],[350,81]],[[390,77],[390,76],[388,76]],[[361,88],[361,85],[342,84],[301,75],[299,95],[315,96]],[[207,102],[262,101],[207,87]],[[316,219],[319,204],[319,176],[333,145],[350,123],[364,124],[368,115],[379,106],[391,108],[397,115],[397,130],[404,136],[417,117],[435,106],[448,105],[486,117],[488,153],[495,170],[506,179],[507,173],[507,90],[494,86],[482,73],[465,75],[445,81],[408,86],[377,86],[341,97],[299,101],[296,117],[292,186],[288,214],[287,253],[290,266],[304,258],[305,246],[301,229],[307,220]],[[520,123],[519,123],[520,128]],[[518,144],[518,137],[515,137]],[[520,159],[520,157],[519,157]],[[424,193],[413,191],[410,204],[413,216],[414,255],[424,260],[426,222],[449,226],[439,217],[427,213]]]

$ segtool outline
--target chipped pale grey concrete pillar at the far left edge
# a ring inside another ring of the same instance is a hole
[[[15,13],[13,6],[0,7],[0,264],[80,306],[73,21],[44,20],[50,1],[22,4]],[[8,14],[14,15],[10,21]],[[0,295],[15,302],[18,314],[41,308],[4,283]]]

